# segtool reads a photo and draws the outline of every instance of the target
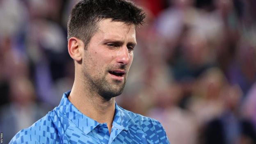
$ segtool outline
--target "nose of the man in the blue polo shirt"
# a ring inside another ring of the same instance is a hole
[[[130,63],[130,54],[126,46],[122,46],[119,48],[117,62],[125,65]]]

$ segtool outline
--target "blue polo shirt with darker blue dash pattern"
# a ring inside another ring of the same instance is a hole
[[[158,121],[117,104],[109,134],[107,124],[82,114],[69,101],[69,94],[64,93],[59,106],[19,131],[9,144],[169,144]]]

